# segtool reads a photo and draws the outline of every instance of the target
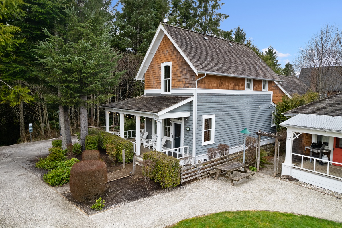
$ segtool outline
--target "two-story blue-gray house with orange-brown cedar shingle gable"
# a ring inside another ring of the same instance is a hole
[[[135,116],[136,131],[145,117],[158,151],[192,155],[195,162],[220,143],[240,151],[245,127],[254,137],[258,130],[275,132],[272,90],[281,78],[246,45],[160,24],[136,76],[144,80],[145,95],[102,105],[106,131],[109,112],[117,112],[121,136],[124,114]],[[263,144],[272,140],[262,137]]]

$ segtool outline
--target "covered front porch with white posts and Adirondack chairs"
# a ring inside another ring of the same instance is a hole
[[[106,109],[106,131],[109,132],[109,112],[119,113],[120,131],[112,134],[132,141],[136,155],[157,150],[180,159],[190,152],[189,145],[184,144],[184,122],[191,115],[192,101],[193,96],[144,95],[102,105]],[[124,114],[134,116],[135,130],[124,130]],[[140,127],[141,118],[144,129]]]

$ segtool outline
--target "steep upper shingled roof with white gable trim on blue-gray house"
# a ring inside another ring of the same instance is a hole
[[[281,81],[271,67],[247,45],[167,24],[159,25],[136,79],[144,80],[144,73],[164,35],[171,40],[196,75],[207,73]]]

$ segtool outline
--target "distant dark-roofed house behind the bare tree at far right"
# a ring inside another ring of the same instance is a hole
[[[324,96],[342,91],[341,66],[302,68],[298,78],[312,91],[321,92]]]

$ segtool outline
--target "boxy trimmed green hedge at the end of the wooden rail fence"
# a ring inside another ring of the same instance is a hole
[[[150,151],[143,154],[144,160],[155,162],[152,179],[159,182],[162,188],[172,188],[180,184],[181,176],[179,160],[159,151]]]

